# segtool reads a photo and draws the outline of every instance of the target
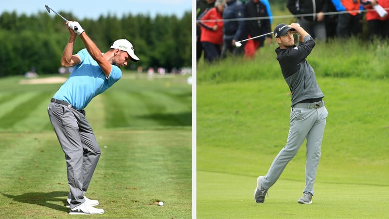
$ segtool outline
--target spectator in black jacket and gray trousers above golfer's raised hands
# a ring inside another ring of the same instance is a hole
[[[325,41],[327,34],[324,13],[327,12],[329,1],[331,0],[288,0],[286,6],[309,35],[316,41]],[[299,16],[304,14],[310,15]]]

